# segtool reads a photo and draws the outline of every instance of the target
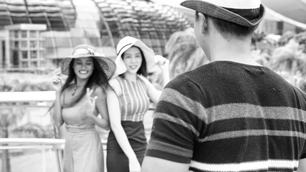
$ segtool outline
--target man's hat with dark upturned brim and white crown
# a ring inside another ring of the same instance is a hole
[[[261,0],[187,0],[181,6],[245,27],[259,24],[266,12]]]

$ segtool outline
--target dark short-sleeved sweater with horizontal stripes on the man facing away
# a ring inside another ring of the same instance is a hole
[[[146,156],[189,171],[296,171],[306,96],[267,67],[218,61],[163,90]]]

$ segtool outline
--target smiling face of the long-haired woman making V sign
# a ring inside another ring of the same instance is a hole
[[[91,57],[82,57],[74,59],[73,70],[75,75],[81,79],[87,79],[93,72],[93,60]]]

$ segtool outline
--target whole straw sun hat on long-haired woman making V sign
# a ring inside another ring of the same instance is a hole
[[[72,55],[63,59],[61,62],[61,72],[64,75],[69,74],[69,65],[72,59],[92,57],[97,60],[102,70],[105,72],[108,80],[114,77],[116,64],[109,58],[104,57],[104,54],[98,53],[95,48],[88,44],[81,44],[73,48]]]

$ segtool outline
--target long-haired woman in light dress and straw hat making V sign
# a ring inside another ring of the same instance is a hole
[[[63,171],[104,171],[103,147],[94,126],[110,129],[106,91],[115,69],[112,60],[82,44],[62,61],[61,72],[68,75],[65,84],[62,86],[60,71],[53,77],[53,118],[57,126],[65,122],[67,129]]]

